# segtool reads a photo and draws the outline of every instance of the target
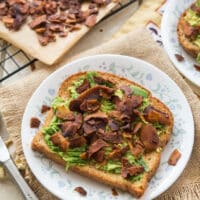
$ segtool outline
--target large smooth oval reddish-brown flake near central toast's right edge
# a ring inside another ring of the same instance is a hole
[[[156,129],[151,124],[146,124],[140,132],[140,140],[146,150],[156,150],[159,146],[159,137]]]

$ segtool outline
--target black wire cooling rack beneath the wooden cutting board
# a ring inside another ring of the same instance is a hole
[[[142,0],[126,0],[123,1],[123,3],[119,3],[119,5],[101,21],[137,1],[139,4],[142,2]],[[37,59],[28,56],[22,50],[0,39],[0,83],[27,67],[34,68],[35,61],[37,61]]]

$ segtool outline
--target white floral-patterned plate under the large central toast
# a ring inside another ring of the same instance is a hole
[[[185,96],[166,74],[144,61],[127,56],[86,57],[67,64],[41,83],[29,100],[22,121],[22,145],[29,167],[36,178],[50,192],[61,199],[133,199],[128,193],[122,192],[119,196],[114,197],[109,186],[72,172],[66,173],[64,167],[31,150],[31,141],[37,132],[36,129],[30,128],[31,117],[36,116],[43,121],[44,116],[40,114],[41,106],[43,104],[50,105],[56,96],[60,83],[66,77],[85,70],[111,72],[136,81],[151,90],[153,95],[167,104],[173,112],[175,125],[172,138],[162,154],[160,167],[143,196],[143,199],[155,198],[174,183],[188,162],[194,139],[193,117]],[[172,167],[167,164],[167,160],[174,148],[178,148],[183,156],[177,165]],[[77,186],[82,186],[87,190],[87,198],[81,197],[74,191]]]

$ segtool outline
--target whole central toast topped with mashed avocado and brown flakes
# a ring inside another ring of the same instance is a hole
[[[32,149],[140,197],[172,128],[169,108],[144,87],[109,73],[81,72],[61,84]]]

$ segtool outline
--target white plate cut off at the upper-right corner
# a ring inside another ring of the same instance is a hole
[[[176,68],[192,83],[200,87],[200,72],[194,68],[196,60],[188,55],[181,47],[177,36],[177,24],[181,14],[194,2],[194,0],[170,0],[161,24],[162,41],[171,61]],[[185,59],[179,62],[175,54],[182,55]],[[199,65],[199,64],[198,64]]]

